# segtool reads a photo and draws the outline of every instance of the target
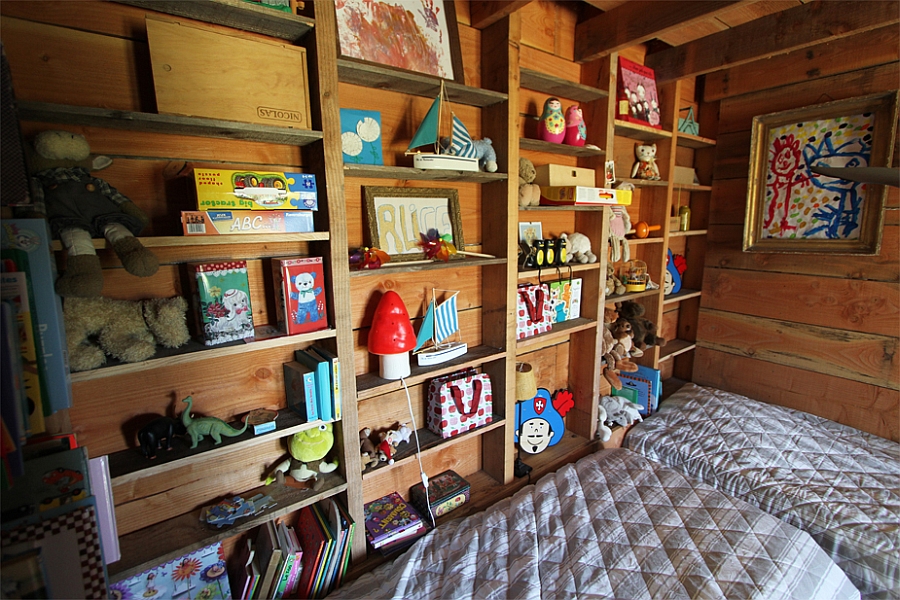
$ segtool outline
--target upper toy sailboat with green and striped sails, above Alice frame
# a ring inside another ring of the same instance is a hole
[[[441,147],[441,123],[444,120],[444,103],[448,105],[447,95],[444,92],[444,81],[441,80],[441,91],[428,109],[425,118],[413,135],[406,154],[413,156],[413,166],[417,169],[448,169],[453,171],[478,171],[478,158],[475,156],[475,144],[472,136],[462,121],[453,111],[450,116],[453,121],[450,148]],[[449,107],[446,109],[449,110]],[[431,146],[433,152],[413,150],[421,146]]]

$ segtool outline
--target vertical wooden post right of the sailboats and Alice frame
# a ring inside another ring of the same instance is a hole
[[[486,365],[494,390],[495,411],[507,426],[488,432],[482,450],[483,468],[497,481],[513,480],[513,418],[515,408],[516,283],[518,281],[518,178],[519,128],[519,40],[521,20],[517,13],[487,27],[481,38],[482,87],[508,94],[506,102],[482,111],[482,131],[495,141],[497,163],[510,174],[506,181],[481,188],[482,236],[485,252],[505,256],[504,265],[484,267],[482,292],[483,342],[506,350],[504,360]]]

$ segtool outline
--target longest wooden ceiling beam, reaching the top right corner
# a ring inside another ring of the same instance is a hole
[[[657,82],[695,77],[900,23],[896,1],[816,1],[647,55]],[[612,12],[612,11],[610,11]]]

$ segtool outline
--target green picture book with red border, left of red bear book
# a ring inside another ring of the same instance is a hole
[[[247,261],[188,263],[196,331],[207,346],[253,339]]]

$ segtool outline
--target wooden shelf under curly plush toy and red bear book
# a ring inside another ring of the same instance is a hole
[[[223,356],[234,356],[236,354],[268,350],[270,348],[280,348],[282,346],[296,346],[304,342],[332,338],[334,336],[334,329],[323,329],[322,331],[313,331],[298,335],[279,335],[277,337],[254,340],[251,342],[229,342],[218,346],[206,346],[196,340],[191,340],[180,348],[163,348],[162,346],[157,346],[156,355],[153,358],[137,363],[109,364],[108,366],[93,369],[91,371],[72,373],[72,383],[92,381],[94,379],[105,379],[107,377],[117,377],[119,375],[129,375],[141,371],[152,371],[163,367],[181,366],[189,362],[213,360],[222,358]]]

